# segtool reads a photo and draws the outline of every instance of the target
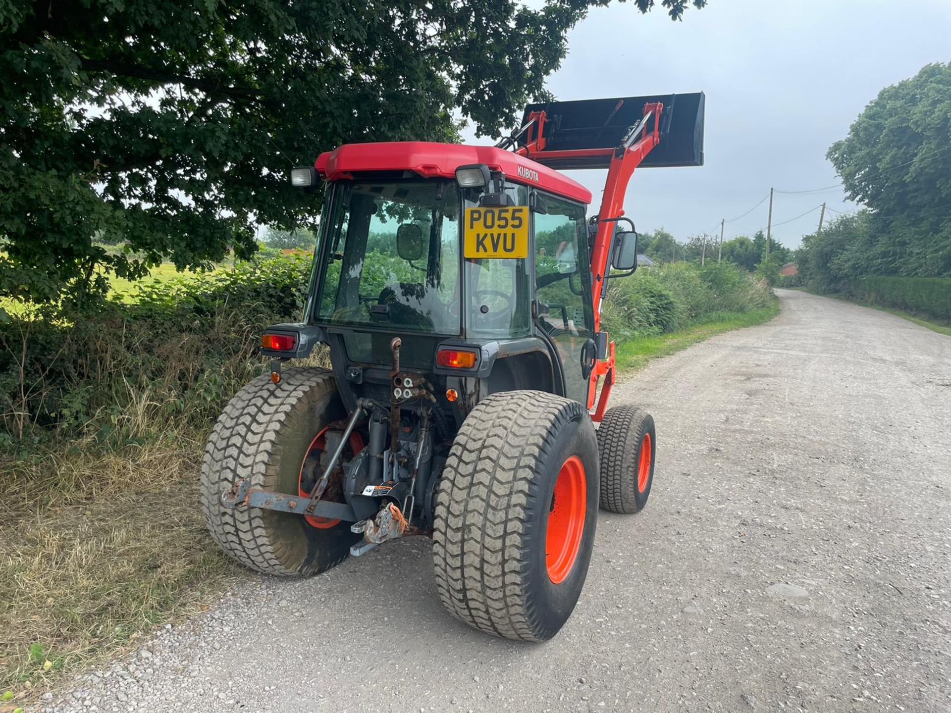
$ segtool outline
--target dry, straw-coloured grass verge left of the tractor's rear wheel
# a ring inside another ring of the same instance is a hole
[[[12,694],[9,704],[206,608],[241,575],[204,535],[200,453],[199,442],[87,445],[5,469],[0,694]]]

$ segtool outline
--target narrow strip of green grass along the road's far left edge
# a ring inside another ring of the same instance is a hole
[[[651,359],[666,357],[687,349],[691,344],[708,337],[743,327],[763,324],[779,314],[779,300],[773,299],[767,307],[749,312],[713,313],[701,322],[694,323],[676,332],[656,337],[635,337],[617,345],[614,357],[622,372],[636,371],[645,367]]]

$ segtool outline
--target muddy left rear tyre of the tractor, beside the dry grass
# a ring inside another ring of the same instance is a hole
[[[320,434],[345,415],[334,377],[323,369],[287,369],[276,384],[259,376],[228,402],[208,438],[201,482],[205,522],[227,554],[283,576],[317,574],[347,556],[360,537],[349,523],[221,502],[222,492],[247,476],[252,488],[299,494]]]

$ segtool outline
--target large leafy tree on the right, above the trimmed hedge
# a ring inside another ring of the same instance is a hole
[[[951,275],[951,63],[885,87],[827,158],[871,211],[858,274]]]

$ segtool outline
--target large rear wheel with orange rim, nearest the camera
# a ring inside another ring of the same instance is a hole
[[[552,638],[584,586],[597,506],[597,439],[581,404],[535,391],[486,397],[459,429],[437,487],[443,605],[496,636]]]

